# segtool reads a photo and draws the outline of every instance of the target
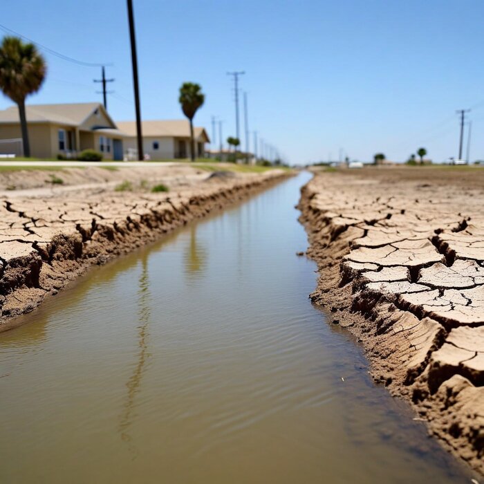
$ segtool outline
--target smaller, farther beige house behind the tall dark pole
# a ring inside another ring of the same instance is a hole
[[[136,150],[136,122],[118,121],[125,134],[124,151]],[[190,124],[188,120],[142,121],[143,151],[151,160],[190,158]],[[194,127],[196,156],[205,156],[205,143],[210,142],[207,131]]]

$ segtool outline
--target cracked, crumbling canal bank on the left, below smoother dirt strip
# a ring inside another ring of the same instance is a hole
[[[54,198],[55,207],[45,207],[44,213],[39,207],[44,201],[35,198],[3,201],[2,221],[19,234],[1,242],[0,332],[22,324],[20,315],[56,295],[89,267],[152,243],[292,175],[267,171],[212,176],[188,194],[112,193],[102,199],[86,197],[84,202]],[[59,216],[62,223],[55,220]]]

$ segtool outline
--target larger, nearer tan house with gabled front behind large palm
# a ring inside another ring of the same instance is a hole
[[[84,149],[106,160],[123,159],[124,133],[99,102],[26,106],[30,153],[35,158],[75,157]],[[22,156],[19,109],[0,111],[0,154]]]

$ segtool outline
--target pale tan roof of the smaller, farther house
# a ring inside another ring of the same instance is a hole
[[[136,122],[118,121],[118,128],[127,136],[136,136]],[[190,124],[188,120],[153,120],[142,121],[141,130],[143,136],[158,138],[189,138]],[[207,131],[202,127],[194,127],[196,140],[205,138],[205,142],[210,142]]]

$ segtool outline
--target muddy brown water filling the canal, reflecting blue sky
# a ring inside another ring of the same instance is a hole
[[[301,174],[0,334],[1,483],[469,483],[308,294]]]

